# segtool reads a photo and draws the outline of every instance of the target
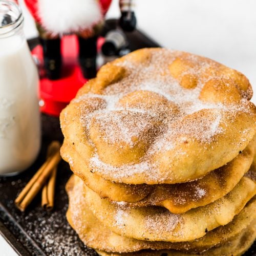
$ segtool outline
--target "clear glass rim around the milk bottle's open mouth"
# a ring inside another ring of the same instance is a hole
[[[20,25],[23,24],[24,17],[23,17],[22,10],[15,2],[0,0],[0,13],[1,13],[2,7],[5,7],[6,12],[11,11],[13,14],[16,14],[15,16],[13,16],[14,19],[12,20],[12,22],[6,25],[0,26],[0,36],[6,36],[7,34],[14,31]],[[5,10],[3,11],[3,13],[4,12]]]

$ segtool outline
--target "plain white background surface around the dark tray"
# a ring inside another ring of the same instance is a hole
[[[241,71],[256,92],[255,10],[255,0],[136,1],[138,28],[164,47],[204,55]],[[24,14],[26,36],[34,37],[33,19],[26,9]],[[118,0],[113,0],[107,17],[119,15]],[[1,255],[16,255],[2,237],[0,249]]]

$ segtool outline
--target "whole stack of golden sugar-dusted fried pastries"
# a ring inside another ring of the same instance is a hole
[[[240,255],[256,237],[252,89],[180,51],[104,65],[60,116],[67,218],[101,255]],[[255,152],[256,153],[256,152]]]

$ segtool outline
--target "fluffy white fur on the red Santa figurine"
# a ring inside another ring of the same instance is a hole
[[[38,15],[53,34],[90,29],[102,19],[96,0],[38,0]]]

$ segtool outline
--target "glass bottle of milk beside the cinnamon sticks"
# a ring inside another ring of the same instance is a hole
[[[23,32],[23,15],[0,0],[0,175],[28,168],[40,148],[38,74]]]

